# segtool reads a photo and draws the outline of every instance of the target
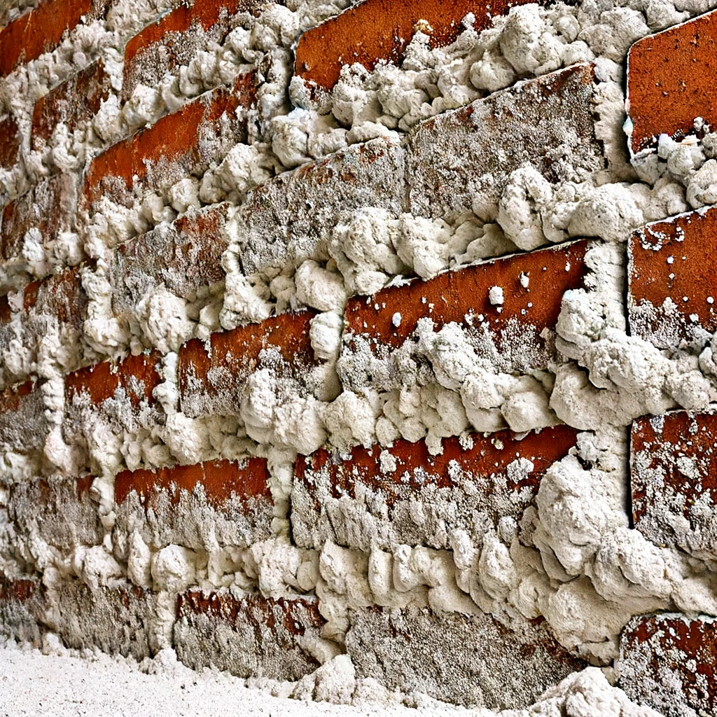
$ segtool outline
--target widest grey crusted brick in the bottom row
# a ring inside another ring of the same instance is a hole
[[[357,678],[465,706],[527,707],[586,667],[540,620],[509,629],[489,614],[415,607],[356,611],[350,619],[346,650]]]

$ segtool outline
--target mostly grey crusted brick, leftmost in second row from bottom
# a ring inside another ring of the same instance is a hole
[[[11,485],[8,515],[16,531],[16,543],[30,536],[39,536],[60,550],[102,543],[105,531],[98,505],[90,497],[91,486],[91,476],[60,475]]]

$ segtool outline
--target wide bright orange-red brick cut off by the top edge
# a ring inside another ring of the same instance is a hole
[[[358,62],[373,70],[381,60],[401,62],[419,20],[427,21],[432,28],[428,31],[432,47],[440,47],[458,37],[463,30],[460,21],[469,12],[475,15],[473,27],[482,30],[491,26],[495,16],[524,2],[366,0],[303,33],[295,52],[295,74],[331,90],[343,65]],[[361,32],[356,32],[357,28]]]

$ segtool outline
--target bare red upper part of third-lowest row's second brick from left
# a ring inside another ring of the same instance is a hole
[[[143,402],[151,405],[154,403],[152,391],[161,382],[156,368],[160,360],[160,354],[152,351],[128,356],[118,363],[104,361],[74,371],[65,377],[65,397],[72,402],[75,397],[87,394],[90,402],[99,406],[122,389],[134,407]]]

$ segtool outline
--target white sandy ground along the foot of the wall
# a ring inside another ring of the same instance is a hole
[[[127,717],[251,716],[416,717],[408,708],[335,706],[272,697],[229,675],[195,673],[171,663],[143,673],[136,663],[95,655],[42,655],[0,647],[0,717],[107,715]]]

